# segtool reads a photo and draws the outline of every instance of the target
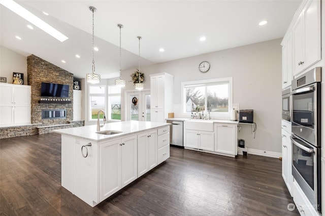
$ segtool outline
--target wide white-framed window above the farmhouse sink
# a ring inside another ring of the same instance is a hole
[[[230,116],[233,104],[233,78],[182,82],[183,114],[204,112],[211,116]]]

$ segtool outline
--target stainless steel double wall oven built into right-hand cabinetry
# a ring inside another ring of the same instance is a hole
[[[291,83],[293,176],[313,207],[321,211],[320,181],[320,85],[321,68],[316,67]]]

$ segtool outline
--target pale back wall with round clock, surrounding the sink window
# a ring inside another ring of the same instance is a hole
[[[180,60],[141,67],[145,73],[145,89],[150,88],[149,74],[167,72],[174,78],[174,112],[180,116],[181,82],[220,77],[233,77],[233,103],[240,109],[253,109],[257,123],[255,139],[250,125],[243,125],[238,135],[248,148],[281,152],[281,38],[258,44],[184,58]],[[167,52],[164,55],[168,55]],[[202,61],[211,68],[207,73],[198,69]],[[127,85],[124,91],[134,90],[131,73],[136,68],[124,70],[122,78]],[[122,93],[122,103],[124,94]],[[123,105],[121,107],[124,107]],[[122,115],[124,110],[122,110]],[[124,119],[124,116],[122,116]]]

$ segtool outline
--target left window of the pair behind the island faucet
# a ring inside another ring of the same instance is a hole
[[[89,120],[97,119],[99,110],[106,111],[106,88],[105,85],[89,85]],[[100,114],[103,118],[103,113]]]

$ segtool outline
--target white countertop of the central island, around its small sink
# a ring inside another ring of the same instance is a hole
[[[101,124],[103,124],[103,122],[101,122]],[[99,142],[103,140],[118,138],[125,135],[132,135],[139,132],[145,132],[145,131],[149,131],[150,129],[164,127],[167,125],[169,125],[169,123],[160,123],[160,122],[151,122],[151,121],[119,121],[113,123],[106,123],[104,127],[101,127],[101,131],[112,130],[112,131],[122,132],[114,135],[96,134],[97,125],[55,129],[53,130],[53,132]]]

